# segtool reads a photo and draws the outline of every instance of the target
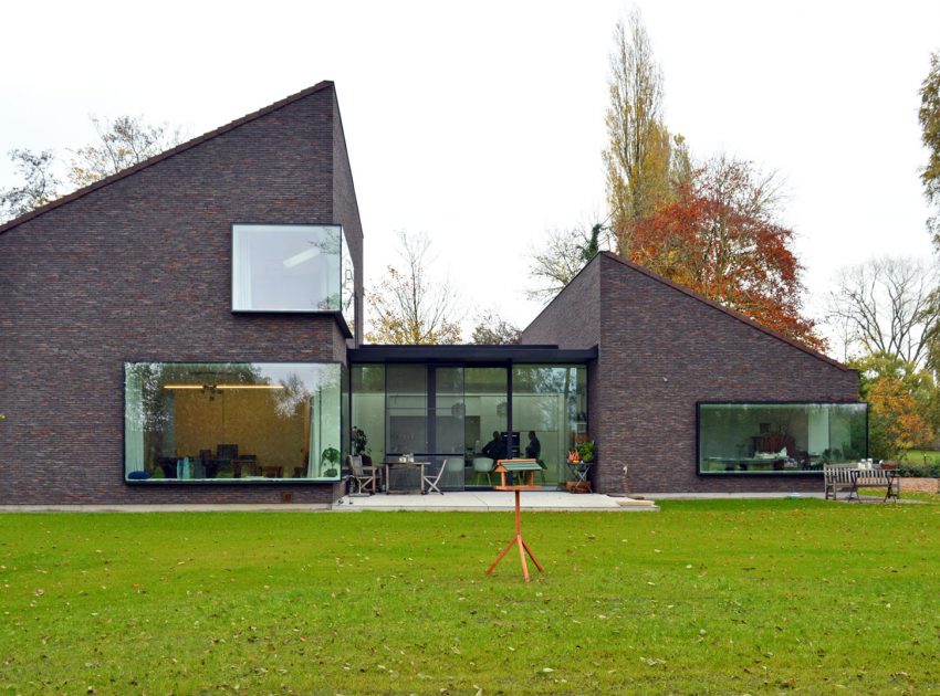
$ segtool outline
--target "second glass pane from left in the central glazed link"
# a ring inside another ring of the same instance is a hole
[[[428,451],[428,370],[424,365],[386,367],[386,452]]]

